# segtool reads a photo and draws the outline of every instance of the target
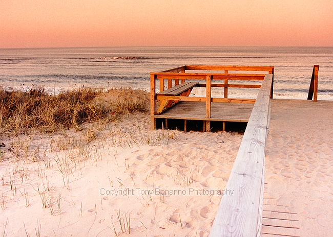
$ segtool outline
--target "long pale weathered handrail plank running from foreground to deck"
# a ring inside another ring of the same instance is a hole
[[[272,75],[266,75],[249,118],[210,236],[260,236],[262,179]]]

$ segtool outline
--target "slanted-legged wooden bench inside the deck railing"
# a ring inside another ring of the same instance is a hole
[[[179,85],[171,87],[167,90],[161,91],[157,93],[158,96],[184,96],[188,97],[193,89],[198,84],[198,82],[183,82]],[[177,104],[178,101],[164,99],[160,101],[160,106],[157,110],[157,114],[162,113],[164,108],[170,108],[171,105],[175,103]]]

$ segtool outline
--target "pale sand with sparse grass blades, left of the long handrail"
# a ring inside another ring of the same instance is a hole
[[[223,189],[242,135],[151,131],[149,123],[148,113],[132,113],[81,131],[3,136],[2,233],[208,236],[221,195],[141,192]],[[119,190],[134,194],[101,195]]]

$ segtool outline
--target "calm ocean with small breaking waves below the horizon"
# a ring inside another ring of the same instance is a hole
[[[149,73],[182,65],[274,66],[274,98],[285,99],[306,99],[313,66],[320,65],[318,99],[333,100],[333,48],[314,47],[0,49],[0,86],[22,90],[43,86],[50,93],[80,86],[149,91]],[[238,98],[255,94],[248,89],[228,93]]]

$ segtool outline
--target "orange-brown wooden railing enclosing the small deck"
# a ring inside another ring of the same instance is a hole
[[[204,71],[203,73],[190,73],[189,71]],[[223,73],[207,72],[207,71],[222,71]],[[211,117],[212,102],[228,102],[228,103],[254,103],[255,99],[235,99],[228,98],[228,88],[260,88],[261,84],[230,84],[232,80],[248,80],[262,81],[265,74],[230,74],[230,71],[256,71],[267,72],[274,75],[273,66],[203,66],[203,65],[186,65],[170,70],[165,70],[160,73],[151,73],[151,128],[155,129],[156,100],[170,101],[201,101],[206,102],[206,118]],[[177,86],[185,80],[205,80],[205,83],[199,83],[196,86],[206,87],[205,97],[188,97],[188,96],[173,96],[166,97],[165,95],[156,96],[156,80],[159,80],[159,91],[164,91],[165,80],[168,80],[168,89]],[[223,81],[223,83],[212,83],[213,80]],[[224,88],[224,98],[212,98],[212,87]],[[270,98],[273,98],[273,77],[270,85]],[[159,110],[159,113],[161,109]],[[204,130],[210,130],[210,121],[205,122]]]

